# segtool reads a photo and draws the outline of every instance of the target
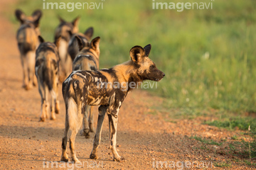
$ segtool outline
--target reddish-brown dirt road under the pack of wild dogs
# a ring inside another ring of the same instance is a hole
[[[60,98],[60,114],[56,120],[38,122],[41,98],[37,88],[25,91],[21,88],[21,62],[16,45],[15,26],[4,16],[9,1],[0,2],[0,169],[78,169],[79,165],[63,164],[60,161],[61,138],[63,135],[65,106]],[[161,82],[159,82],[161,83]],[[61,91],[61,89],[59,89]],[[191,136],[207,137],[216,141],[230,139],[237,132],[219,130],[202,125],[208,118],[176,120],[166,122],[163,114],[148,114],[150,106],[161,105],[163,99],[150,96],[145,91],[132,91],[125,99],[119,112],[117,129],[117,149],[126,162],[113,162],[109,144],[108,125],[105,120],[102,130],[102,142],[97,161],[89,159],[92,149],[92,136],[85,139],[77,136],[75,147],[78,159],[85,169],[163,169],[213,168],[215,162],[232,162],[230,154],[218,154],[222,147],[207,146],[198,149],[202,143]],[[97,108],[94,110],[95,123]],[[107,119],[107,118],[105,118]],[[228,142],[228,141],[227,141]],[[240,159],[240,158],[238,158]],[[57,162],[57,163],[55,163]],[[163,163],[166,162],[166,163]],[[185,164],[188,162],[187,164]],[[193,165],[189,164],[193,163]],[[232,162],[232,169],[240,169],[240,164]],[[244,169],[250,167],[242,166]]]

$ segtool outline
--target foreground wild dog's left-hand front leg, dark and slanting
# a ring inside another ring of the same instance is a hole
[[[96,129],[95,139],[93,141],[93,148],[92,148],[92,152],[90,154],[90,159],[97,159],[97,148],[100,145],[102,124],[103,124],[103,120],[104,120],[106,111],[107,111],[107,108],[105,106],[99,107],[99,117],[97,120],[97,129]]]

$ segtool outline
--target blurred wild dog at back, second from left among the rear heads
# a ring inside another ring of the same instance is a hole
[[[61,37],[58,51],[60,53],[60,81],[63,81],[72,72],[72,60],[68,54],[68,42],[74,33],[78,33],[80,17],[78,16],[71,23],[64,21],[60,17],[59,20],[60,25],[55,30],[55,40]]]

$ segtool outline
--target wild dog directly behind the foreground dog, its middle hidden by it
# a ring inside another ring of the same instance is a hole
[[[75,57],[73,62],[73,71],[96,71],[99,69],[99,57],[100,57],[100,37],[94,38],[88,45],[84,44],[84,41],[75,36],[78,42],[79,53]],[[93,115],[91,106],[87,105],[85,108],[85,114],[82,121],[81,134],[86,138],[90,137],[90,132],[94,132],[93,128]]]

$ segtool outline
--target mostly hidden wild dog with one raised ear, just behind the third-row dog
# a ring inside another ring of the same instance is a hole
[[[90,27],[87,30],[85,30],[85,33],[75,33],[72,35],[70,42],[68,43],[68,54],[70,55],[72,61],[75,60],[75,56],[78,55],[79,46],[78,46],[78,40],[75,38],[75,36],[78,36],[80,40],[82,40],[82,47],[90,47],[90,39],[93,35],[93,28]]]

